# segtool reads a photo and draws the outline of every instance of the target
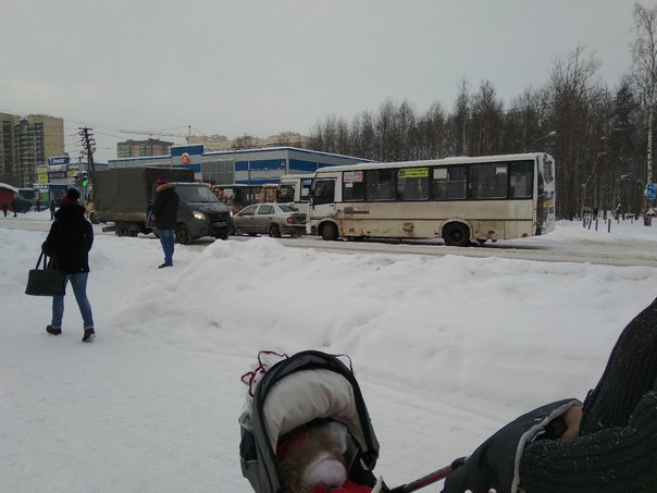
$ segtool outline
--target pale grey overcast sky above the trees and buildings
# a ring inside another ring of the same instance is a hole
[[[643,0],[654,7],[657,0]],[[0,1],[0,112],[64,119],[66,151],[94,128],[308,134],[407,99],[453,108],[461,78],[508,104],[578,44],[615,87],[630,66],[631,0]],[[154,135],[157,137],[157,135]],[[182,144],[181,138],[163,139]]]

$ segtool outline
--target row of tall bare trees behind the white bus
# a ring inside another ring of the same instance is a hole
[[[631,69],[613,89],[597,79],[600,61],[578,46],[554,63],[543,87],[525,89],[508,107],[489,81],[472,91],[463,79],[451,111],[435,102],[420,113],[408,100],[388,99],[351,122],[325,116],[311,147],[376,161],[545,150],[557,159],[559,218],[618,205],[639,213],[653,181],[657,8],[636,3],[634,21]]]

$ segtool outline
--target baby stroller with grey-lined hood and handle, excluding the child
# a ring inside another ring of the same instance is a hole
[[[412,483],[387,488],[373,472],[379,442],[349,367],[317,350],[282,359],[269,370],[263,367],[261,363],[243,377],[250,383],[252,402],[239,420],[241,472],[256,493],[289,492],[277,454],[282,444],[305,430],[335,421],[347,429],[344,459],[347,479],[356,484],[382,493],[408,493],[438,481],[456,467],[457,461]],[[258,375],[261,378],[256,382]]]

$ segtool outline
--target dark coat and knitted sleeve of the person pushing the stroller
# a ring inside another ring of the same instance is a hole
[[[657,299],[621,333],[584,402],[580,436],[561,440],[571,402],[529,412],[484,442],[443,493],[657,492]]]

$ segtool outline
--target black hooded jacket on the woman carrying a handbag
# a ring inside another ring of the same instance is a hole
[[[60,269],[70,274],[89,272],[89,250],[94,244],[94,227],[85,219],[85,208],[77,204],[62,206],[41,250],[55,257]]]

